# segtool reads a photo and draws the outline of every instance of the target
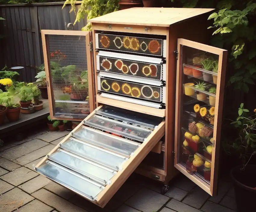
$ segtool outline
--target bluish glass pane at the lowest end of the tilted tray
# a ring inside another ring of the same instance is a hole
[[[36,171],[90,200],[104,189],[104,186],[51,161],[46,161]]]

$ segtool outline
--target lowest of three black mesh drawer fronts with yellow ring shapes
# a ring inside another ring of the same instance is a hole
[[[101,91],[132,96],[151,101],[162,101],[162,88],[123,80],[100,78]]]

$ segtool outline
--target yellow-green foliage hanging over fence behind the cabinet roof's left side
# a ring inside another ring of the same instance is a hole
[[[87,20],[105,15],[114,11],[117,11],[119,8],[118,5],[119,0],[82,0],[80,8],[76,13],[76,0],[66,0],[63,7],[67,4],[71,5],[71,11],[74,11],[76,14],[76,22],[80,22],[80,20],[87,16]],[[84,31],[92,30],[92,24],[87,23],[85,27],[82,28]]]

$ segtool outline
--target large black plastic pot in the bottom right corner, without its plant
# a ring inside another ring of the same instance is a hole
[[[255,211],[256,165],[247,165],[242,171],[240,168],[237,166],[231,170],[237,212]]]

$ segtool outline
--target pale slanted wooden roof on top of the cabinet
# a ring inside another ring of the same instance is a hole
[[[214,9],[136,7],[92,18],[88,20],[88,22],[169,27],[173,23],[207,13],[212,10]]]

